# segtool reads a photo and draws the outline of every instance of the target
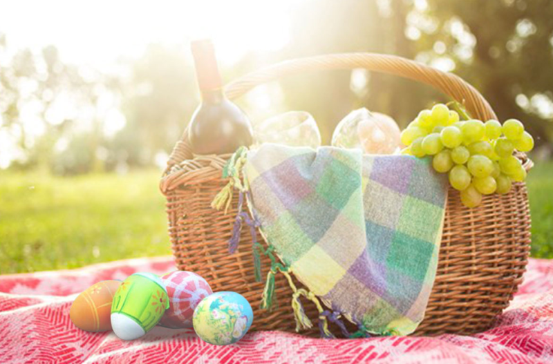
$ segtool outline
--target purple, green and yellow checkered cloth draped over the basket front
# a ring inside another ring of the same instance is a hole
[[[265,144],[244,172],[263,237],[313,294],[366,332],[415,330],[447,194],[429,159]]]

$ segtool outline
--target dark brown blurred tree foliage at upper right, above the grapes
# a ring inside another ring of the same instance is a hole
[[[444,1],[430,0],[415,12],[436,23],[417,42],[418,50],[431,58],[451,57],[455,72],[480,90],[501,120],[521,119],[536,142],[551,140],[551,1],[464,0],[444,6]]]

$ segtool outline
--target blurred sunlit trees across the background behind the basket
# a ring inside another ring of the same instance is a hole
[[[223,62],[225,79],[328,52],[400,55],[457,73],[500,119],[521,119],[542,154],[551,149],[551,1],[304,1],[290,21],[288,44]],[[0,167],[62,175],[161,165],[199,101],[185,41],[151,44],[105,72],[64,63],[55,46],[18,48],[3,34],[0,85]],[[290,77],[240,103],[254,122],[309,111],[328,143],[353,108],[387,113],[405,126],[420,109],[445,100],[427,86],[353,70]]]

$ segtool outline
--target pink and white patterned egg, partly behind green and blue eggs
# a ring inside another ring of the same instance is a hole
[[[194,309],[201,300],[213,293],[209,284],[191,271],[173,271],[161,276],[169,296],[169,309],[160,325],[171,329],[192,327]]]

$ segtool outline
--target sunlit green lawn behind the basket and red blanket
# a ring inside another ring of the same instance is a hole
[[[171,253],[160,172],[0,173],[0,274]],[[553,258],[553,164],[529,173],[532,255]]]

